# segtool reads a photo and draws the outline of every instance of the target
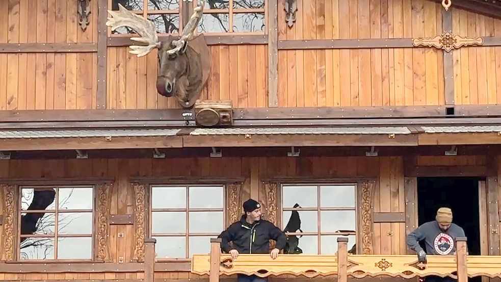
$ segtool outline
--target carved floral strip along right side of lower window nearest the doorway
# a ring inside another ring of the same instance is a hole
[[[362,254],[372,254],[372,194],[374,183],[363,182],[361,184],[361,250]]]

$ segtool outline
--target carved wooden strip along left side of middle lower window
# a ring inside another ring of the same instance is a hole
[[[134,228],[136,230],[136,234],[134,235],[134,258],[139,262],[144,262],[144,236],[145,236],[145,228],[144,228],[144,211],[145,211],[145,199],[144,199],[144,184],[136,184],[134,185],[134,191],[136,195],[136,206],[135,206],[135,214],[136,221],[134,223]]]

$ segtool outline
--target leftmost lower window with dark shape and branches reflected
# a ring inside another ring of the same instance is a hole
[[[20,260],[91,260],[93,187],[22,187]]]

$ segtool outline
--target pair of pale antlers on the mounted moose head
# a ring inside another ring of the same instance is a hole
[[[168,50],[168,54],[172,55],[178,53],[187,41],[193,39],[195,29],[198,25],[198,22],[202,18],[205,0],[200,0],[200,3],[200,6],[193,9],[194,13],[186,24],[186,27],[184,27],[181,37],[178,40],[172,41],[172,46],[174,48]],[[108,27],[111,27],[112,31],[121,27],[128,27],[130,29],[133,29],[141,37],[131,37],[130,40],[148,44],[147,46],[129,46],[131,49],[133,49],[132,51],[129,51],[130,54],[135,54],[138,57],[142,57],[148,55],[148,53],[150,53],[154,48],[160,47],[159,37],[156,34],[156,28],[153,22],[125,9],[121,4],[118,4],[118,8],[118,12],[108,10],[108,13],[110,13],[111,17],[108,18],[106,25],[108,25]]]

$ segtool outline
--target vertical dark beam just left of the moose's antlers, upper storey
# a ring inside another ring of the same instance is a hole
[[[107,81],[107,33],[106,25],[108,14],[108,0],[97,2],[97,92],[96,108],[106,109],[106,81]]]

